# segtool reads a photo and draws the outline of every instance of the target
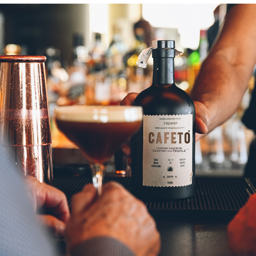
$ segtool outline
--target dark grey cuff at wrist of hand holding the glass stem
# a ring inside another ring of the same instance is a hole
[[[97,237],[77,245],[71,256],[135,256],[122,242],[111,237]]]

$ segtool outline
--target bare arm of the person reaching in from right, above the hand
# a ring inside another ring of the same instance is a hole
[[[255,13],[256,5],[237,5],[229,11],[195,81],[191,96],[206,113],[208,132],[232,116],[247,89],[256,62]]]

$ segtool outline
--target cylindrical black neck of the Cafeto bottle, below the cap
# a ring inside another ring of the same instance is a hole
[[[174,58],[154,58],[153,85],[175,85]]]

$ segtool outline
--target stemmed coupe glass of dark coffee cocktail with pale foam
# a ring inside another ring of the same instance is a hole
[[[92,171],[98,195],[106,164],[116,149],[142,125],[142,107],[135,106],[57,106],[57,127],[84,153]]]

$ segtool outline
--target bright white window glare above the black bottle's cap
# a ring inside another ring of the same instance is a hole
[[[142,15],[153,27],[177,28],[183,48],[197,49],[200,30],[214,23],[219,4],[143,4]]]

